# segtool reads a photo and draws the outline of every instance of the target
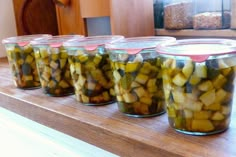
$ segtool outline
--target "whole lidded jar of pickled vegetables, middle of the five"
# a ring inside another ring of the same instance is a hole
[[[64,43],[68,50],[76,100],[85,105],[114,102],[114,82],[105,44],[123,36],[92,36]]]

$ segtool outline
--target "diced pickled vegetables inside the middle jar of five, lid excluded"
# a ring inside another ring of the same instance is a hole
[[[76,100],[86,105],[105,105],[114,102],[114,82],[108,54],[80,51],[70,55]]]

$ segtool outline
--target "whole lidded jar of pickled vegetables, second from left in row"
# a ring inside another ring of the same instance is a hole
[[[61,35],[31,42],[41,86],[47,95],[66,96],[74,94],[68,53],[62,45],[63,42],[74,38],[81,40],[83,37],[80,35]]]

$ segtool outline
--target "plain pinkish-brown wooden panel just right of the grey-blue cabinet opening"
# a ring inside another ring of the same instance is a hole
[[[110,0],[112,34],[154,35],[153,0]]]

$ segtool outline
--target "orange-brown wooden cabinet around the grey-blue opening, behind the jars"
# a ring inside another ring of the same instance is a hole
[[[86,18],[110,17],[112,35],[155,34],[153,0],[70,0],[56,6],[60,34],[87,35]]]

